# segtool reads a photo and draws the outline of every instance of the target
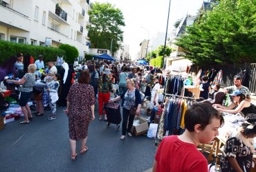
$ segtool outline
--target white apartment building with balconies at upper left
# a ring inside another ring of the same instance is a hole
[[[89,0],[0,0],[0,39],[89,53]]]

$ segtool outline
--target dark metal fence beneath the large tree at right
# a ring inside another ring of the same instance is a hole
[[[222,70],[223,80],[221,82],[221,87],[228,87],[234,85],[233,77],[240,72],[246,70],[248,72],[248,82],[243,84],[248,87],[251,94],[256,94],[256,63],[243,64],[243,65],[205,65],[201,66],[201,69],[216,69]]]

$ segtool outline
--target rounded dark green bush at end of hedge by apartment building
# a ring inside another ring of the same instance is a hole
[[[66,54],[64,55],[64,59],[66,63],[72,63],[75,61],[75,58],[78,57],[79,53],[76,47],[68,45],[68,44],[62,44],[59,47],[62,50],[65,50]]]

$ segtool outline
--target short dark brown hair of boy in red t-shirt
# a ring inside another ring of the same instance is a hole
[[[212,118],[219,119],[221,126],[223,125],[223,116],[217,109],[206,103],[194,103],[190,109],[185,111],[185,128],[192,132],[194,126],[199,124],[201,125],[200,129],[203,130],[210,124]]]

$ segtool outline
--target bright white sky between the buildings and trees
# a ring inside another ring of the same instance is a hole
[[[152,39],[157,32],[166,32],[169,0],[91,0],[111,3],[119,8],[125,19],[123,43],[129,45],[131,59],[136,59],[140,43]],[[171,0],[168,33],[174,30],[174,23],[186,14],[195,15],[203,0]],[[165,39],[163,39],[163,45]]]

